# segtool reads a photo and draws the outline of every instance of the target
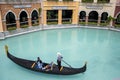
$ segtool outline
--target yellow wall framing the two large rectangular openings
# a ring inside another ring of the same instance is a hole
[[[78,1],[74,2],[66,2],[66,1],[44,1],[43,3],[43,11],[44,14],[46,10],[53,10],[53,6],[66,6],[68,10],[73,10],[73,15],[72,15],[72,24],[77,24],[78,23],[78,9],[79,9],[79,3]],[[61,9],[58,9],[58,11]],[[60,14],[60,13],[58,13]],[[62,15],[61,15],[62,16]],[[44,19],[44,25],[46,25],[46,15],[43,15]],[[61,19],[61,18],[59,18]],[[58,24],[61,24],[61,21],[58,20]]]

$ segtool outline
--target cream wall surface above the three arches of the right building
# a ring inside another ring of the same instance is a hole
[[[96,2],[96,0],[94,0]],[[96,3],[90,3],[89,5],[91,6],[97,6],[98,4]],[[111,0],[110,3],[106,3],[106,4],[99,4],[101,7],[103,7],[102,9],[87,9],[86,6],[87,4],[85,3],[80,3],[79,6],[79,12],[80,11],[85,11],[87,13],[87,16],[89,15],[89,13],[91,11],[97,11],[99,16],[101,16],[101,14],[103,12],[107,12],[108,15],[111,15],[112,17],[114,16],[114,11],[115,11],[115,5],[116,5],[116,0]]]

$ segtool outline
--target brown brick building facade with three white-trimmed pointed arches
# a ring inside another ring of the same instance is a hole
[[[37,0],[24,1],[26,2],[19,0],[0,2],[0,32],[41,24],[40,2]]]

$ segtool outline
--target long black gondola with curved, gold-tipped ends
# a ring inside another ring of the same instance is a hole
[[[39,68],[36,68],[36,61],[31,61],[31,60],[26,60],[26,59],[21,59],[18,57],[13,56],[12,54],[9,53],[8,51],[8,46],[5,46],[5,51],[7,54],[7,57],[11,59],[14,63],[27,68],[29,70],[41,72],[41,73],[47,73],[47,74],[55,74],[55,75],[73,75],[73,74],[78,74],[78,73],[84,73],[87,68],[87,62],[85,62],[84,66],[81,68],[72,68],[72,67],[62,67],[62,70],[60,71],[58,69],[58,65],[54,65],[52,70],[46,71],[42,70]],[[48,63],[43,63],[44,65],[47,65]]]

